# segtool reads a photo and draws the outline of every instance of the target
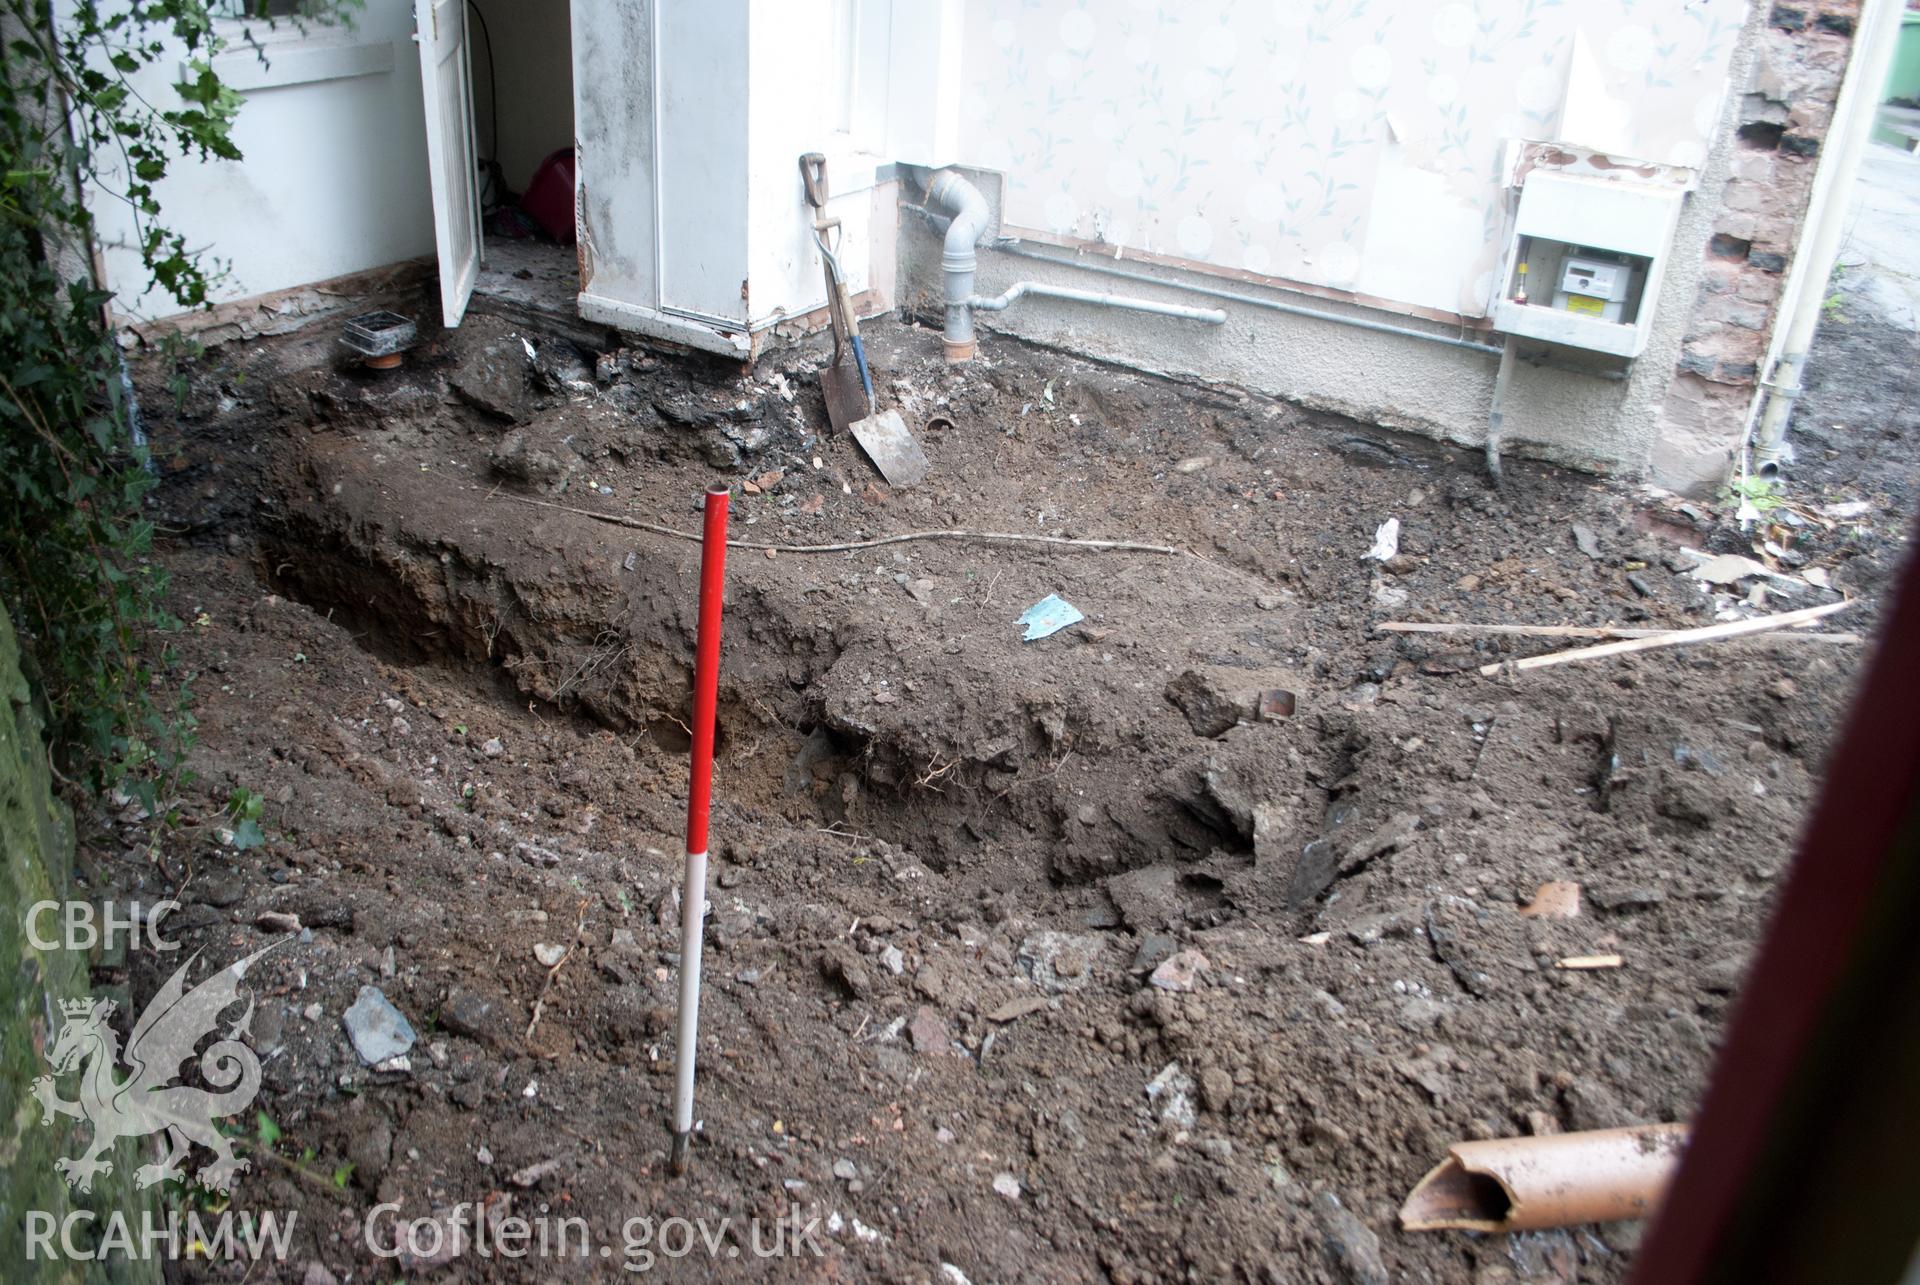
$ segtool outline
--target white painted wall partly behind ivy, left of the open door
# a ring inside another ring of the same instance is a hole
[[[240,23],[223,23],[238,36]],[[244,90],[242,161],[179,161],[157,186],[165,223],[228,263],[215,302],[284,290],[434,252],[420,63],[409,0],[367,0],[353,29],[252,23],[269,63],[234,44],[219,75]],[[179,58],[136,79],[167,106]],[[146,273],[123,202],[94,192],[108,282],[127,315],[177,311],[142,296]]]

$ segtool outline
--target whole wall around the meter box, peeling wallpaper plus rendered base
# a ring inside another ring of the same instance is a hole
[[[1480,217],[1455,221],[1450,209],[1463,192],[1478,192],[1473,200],[1494,200],[1490,194],[1500,190],[1496,177],[1500,144],[1509,136],[1513,121],[1503,123],[1500,115],[1488,117],[1484,129],[1463,140],[1473,158],[1494,167],[1494,173],[1484,179],[1488,184],[1484,190],[1478,169],[1471,175],[1463,169],[1453,179],[1440,175],[1446,179],[1444,182],[1436,182],[1432,171],[1407,173],[1407,156],[1404,156],[1407,148],[1398,138],[1413,136],[1411,125],[1405,134],[1400,134],[1398,129],[1357,138],[1342,134],[1346,146],[1342,146],[1338,159],[1352,161],[1357,169],[1348,179],[1356,186],[1340,194],[1342,200],[1352,198],[1350,213],[1334,225],[1334,234],[1346,246],[1344,252],[1332,255],[1342,265],[1338,280],[1348,282],[1340,286],[1332,284],[1331,277],[1311,279],[1304,271],[1308,280],[1286,280],[1271,271],[1252,271],[1246,267],[1246,259],[1235,263],[1231,257],[1231,248],[1240,244],[1240,232],[1254,234],[1252,223],[1279,227],[1279,219],[1290,217],[1283,213],[1284,202],[1281,211],[1269,209],[1263,204],[1265,194],[1254,202],[1260,209],[1250,209],[1244,190],[1238,198],[1235,196],[1236,184],[1244,184],[1248,175],[1271,182],[1275,188],[1315,181],[1315,173],[1321,181],[1325,179],[1325,171],[1315,171],[1313,158],[1300,154],[1300,148],[1306,146],[1302,136],[1313,142],[1313,127],[1302,125],[1296,136],[1279,138],[1294,129],[1284,115],[1284,104],[1281,104],[1279,115],[1261,127],[1273,134],[1267,142],[1275,146],[1263,144],[1254,152],[1244,148],[1236,152],[1235,131],[1227,131],[1225,140],[1221,140],[1215,133],[1221,121],[1213,117],[1227,111],[1231,104],[1233,113],[1260,119],[1260,113],[1275,102],[1275,94],[1284,83],[1283,73],[1313,79],[1352,77],[1357,56],[1361,73],[1373,79],[1377,73],[1369,60],[1377,56],[1367,50],[1377,44],[1375,29],[1386,27],[1388,17],[1398,25],[1413,23],[1417,29],[1432,29],[1428,44],[1415,42],[1411,69],[1398,50],[1388,56],[1396,69],[1384,86],[1388,104],[1409,86],[1421,88],[1423,85],[1425,92],[1434,98],[1446,96],[1430,86],[1434,77],[1453,75],[1448,71],[1446,58],[1480,65],[1476,75],[1484,77],[1486,85],[1476,86],[1475,94],[1524,92],[1530,100],[1546,102],[1548,90],[1534,83],[1559,67],[1555,58],[1572,58],[1574,36],[1567,35],[1561,44],[1549,42],[1546,50],[1536,50],[1534,65],[1544,69],[1542,75],[1521,77],[1524,65],[1503,65],[1498,60],[1500,50],[1482,44],[1488,36],[1480,25],[1490,23],[1494,36],[1507,33],[1521,38],[1519,33],[1528,15],[1544,19],[1549,10],[1567,10],[1551,17],[1555,21],[1601,13],[1619,17],[1632,8],[1640,23],[1626,23],[1620,31],[1628,31],[1628,35],[1615,33],[1599,42],[1611,60],[1624,63],[1624,69],[1615,67],[1613,73],[1601,75],[1601,81],[1613,86],[1605,98],[1628,96],[1630,86],[1620,85],[1620,77],[1628,75],[1638,77],[1642,85],[1647,79],[1670,81],[1670,85],[1655,86],[1668,96],[1678,90],[1684,98],[1688,90],[1695,90],[1697,98],[1692,109],[1672,109],[1659,119],[1649,119],[1634,146],[1655,148],[1659,131],[1678,138],[1668,144],[1665,156],[1686,159],[1690,167],[1697,167],[1697,186],[1680,209],[1672,232],[1668,271],[1659,282],[1659,300],[1649,300],[1655,311],[1644,353],[1624,373],[1611,359],[1592,361],[1571,350],[1551,353],[1555,365],[1540,365],[1532,357],[1540,357],[1544,346],[1524,342],[1523,357],[1528,359],[1517,365],[1505,400],[1505,442],[1507,449],[1517,455],[1534,455],[1603,473],[1651,474],[1672,486],[1701,484],[1697,474],[1670,476],[1659,471],[1657,407],[1674,376],[1682,336],[1692,317],[1692,302],[1701,286],[1707,238],[1732,167],[1734,119],[1728,109],[1730,96],[1720,92],[1720,86],[1745,83],[1766,10],[1736,13],[1736,19],[1743,15],[1743,25],[1715,35],[1716,42],[1724,38],[1726,48],[1715,44],[1713,58],[1705,58],[1703,48],[1688,52],[1688,46],[1676,40],[1676,33],[1692,31],[1699,13],[1724,12],[1716,0],[1686,8],[1651,6],[1645,0],[1640,0],[1638,6],[1630,6],[1628,0],[1592,0],[1592,4],[1582,0],[1578,6],[1551,6],[1546,0],[1486,0],[1478,6],[1480,17],[1469,25],[1471,31],[1463,44],[1453,44],[1459,33],[1440,31],[1432,25],[1440,23],[1440,15],[1457,15],[1459,10],[1467,8],[1465,4],[1373,0],[1369,23],[1352,23],[1346,29],[1344,38],[1350,44],[1311,38],[1313,33],[1327,31],[1327,15],[1357,10],[1359,4],[1361,0],[1300,4],[1275,0],[1275,4],[1254,6],[1248,21],[1258,19],[1256,27],[1265,23],[1265,35],[1233,44],[1233,58],[1225,58],[1221,50],[1227,48],[1235,25],[1246,13],[1242,6],[1229,6],[1225,0],[1192,0],[1181,6],[1154,6],[1152,0],[1133,6],[1077,6],[1069,0],[1033,0],[1014,6],[998,4],[998,0],[975,0],[968,6],[970,61],[966,79],[970,100],[964,109],[962,148],[970,148],[970,159],[981,158],[983,167],[985,159],[996,159],[1006,167],[998,175],[989,169],[979,182],[996,206],[996,230],[1021,236],[1029,242],[1027,248],[1056,255],[1054,263],[1037,263],[987,246],[979,254],[975,290],[996,294],[1016,280],[1033,279],[1083,290],[1137,294],[1169,303],[1202,303],[1227,311],[1223,327],[1202,327],[1079,303],[1027,300],[1002,313],[979,313],[975,325],[983,330],[1002,330],[1137,369],[1233,382],[1302,405],[1340,411],[1361,423],[1407,428],[1478,448],[1486,434],[1496,355],[1369,332],[1334,321],[1275,313],[1254,303],[1196,298],[1179,290],[1179,284],[1227,288],[1294,307],[1304,305],[1350,319],[1404,325],[1457,338],[1461,334],[1457,317],[1452,321],[1440,317],[1467,313],[1469,305],[1480,305],[1480,288],[1473,282],[1484,269],[1478,269],[1476,263],[1490,250],[1503,250],[1505,240],[1503,236],[1482,240]],[[1098,86],[1083,86],[1075,79],[1089,61],[1112,60],[1114,36],[1123,25],[1142,21],[1152,21],[1156,27],[1146,35],[1135,29],[1117,40],[1119,61],[1131,71],[1116,71],[1108,61],[1104,63],[1106,71],[1098,73],[1104,77]],[[998,23],[1010,23],[1010,27],[996,29]],[[1173,35],[1160,31],[1158,23],[1167,27],[1198,23],[1202,31],[1187,31],[1185,36],[1192,44],[1183,44]],[[1398,25],[1394,29],[1400,29]],[[1213,27],[1223,31],[1215,33]],[[1440,38],[1442,35],[1446,38]],[[1016,104],[1014,109],[1008,109],[1006,102],[983,102],[981,86],[975,81],[979,63],[973,60],[979,40],[989,46],[989,58],[1000,75],[1008,75],[1012,69],[1012,73],[1025,77],[1018,92],[1008,90],[1012,92],[1008,102]],[[1144,46],[1139,40],[1144,40]],[[1392,36],[1388,36],[1390,40]],[[1676,48],[1668,50],[1668,44]],[[1169,77],[1162,71],[1156,77],[1152,63],[1156,60],[1164,63],[1165,58],[1179,56],[1183,48],[1212,50],[1208,54],[1212,61],[1185,65],[1181,75]],[[1482,52],[1494,56],[1492,67],[1486,67],[1484,60],[1478,58]],[[1432,69],[1428,69],[1428,60],[1436,60]],[[1668,75],[1668,63],[1672,75]],[[1021,67],[1023,71],[1020,71]],[[1254,75],[1248,75],[1233,94],[1215,94],[1208,100],[1206,94],[1219,81],[1221,67],[1248,67]],[[1402,77],[1402,73],[1405,75]],[[1465,75],[1457,75],[1455,85],[1440,88],[1455,92],[1463,81]],[[1352,102],[1344,100],[1342,92],[1352,90],[1327,86],[1327,92],[1309,92],[1309,100],[1329,109],[1344,109],[1338,104],[1344,102],[1350,108]],[[1198,115],[1188,115],[1196,100],[1212,106]],[[1718,108],[1716,115],[1713,108]],[[1106,119],[1096,119],[1102,115]],[[979,148],[981,127],[989,119],[1006,125],[1010,131],[1006,136],[1016,138],[1021,150],[998,156],[983,152]],[[1469,111],[1469,121],[1473,119],[1476,117]],[[1571,133],[1603,136],[1605,131],[1613,131],[1611,136],[1619,142],[1620,123],[1619,113],[1594,111],[1576,121],[1576,129]],[[1092,129],[1092,133],[1083,133],[1083,127]],[[1544,117],[1521,133],[1546,133],[1557,127],[1561,127],[1557,117]],[[1701,138],[1699,152],[1693,150],[1692,136]],[[1098,146],[1089,138],[1096,140]],[[1212,146],[1210,140],[1221,146]],[[1317,146],[1327,148],[1329,136],[1319,136]],[[1121,179],[1119,186],[1127,192],[1131,206],[1114,204],[1114,177]],[[1148,182],[1150,177],[1152,182]],[[1106,202],[1098,234],[1106,236],[1108,242],[1098,250],[1035,246],[1035,242],[1046,240],[1073,244],[1066,232],[1046,230],[1046,206],[1054,196],[1062,200],[1056,204],[1060,219],[1052,227],[1081,232],[1087,232],[1087,225],[1075,221],[1085,219],[1096,202]],[[1148,209],[1148,202],[1152,209]],[[1144,211],[1146,221],[1121,234],[1123,229],[1116,221],[1108,221],[1108,215],[1127,209],[1135,215]],[[1377,217],[1380,211],[1388,211],[1386,221]],[[1160,236],[1167,227],[1177,240],[1179,223],[1188,217],[1206,217],[1210,229],[1215,229],[1212,238],[1202,238],[1198,232],[1188,234],[1188,250],[1200,248],[1200,242],[1206,240],[1208,259],[1183,259],[1179,254],[1154,255],[1133,248],[1148,236],[1148,244],[1162,246]],[[1021,227],[1023,223],[1025,227]],[[1035,223],[1039,234],[1029,230]],[[1346,234],[1350,225],[1354,227],[1352,238]],[[1488,227],[1498,229],[1500,225],[1501,219],[1494,219]],[[1231,232],[1225,242],[1229,254],[1219,252],[1223,242],[1217,229]],[[1308,238],[1308,250],[1311,244]],[[1308,263],[1311,257],[1313,263],[1325,267],[1329,261],[1325,248],[1331,242],[1319,244],[1319,252],[1304,255],[1296,263]],[[1438,271],[1421,259],[1425,254],[1436,254]],[[1094,265],[1116,265],[1116,259],[1119,269],[1165,284],[1117,282],[1092,271]],[[1261,267],[1273,269],[1277,261],[1275,254],[1275,257],[1261,261]],[[902,290],[916,300],[922,311],[937,309],[943,298],[939,263],[939,238],[918,221],[902,223]],[[1356,288],[1361,282],[1367,282],[1377,294]],[[1442,294],[1430,292],[1436,284],[1444,288]],[[1459,290],[1465,294],[1457,294]],[[1455,305],[1442,307],[1450,300],[1457,300]],[[1490,332],[1471,332],[1471,338],[1500,342],[1500,336]],[[991,336],[983,338],[981,350],[987,352],[991,344]],[[1596,373],[1582,373],[1582,367]],[[1603,378],[1597,373],[1601,367],[1613,367],[1611,373],[1624,376]],[[1738,438],[1738,423],[1730,424],[1728,446]]]

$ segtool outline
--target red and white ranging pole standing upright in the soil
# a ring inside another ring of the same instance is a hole
[[[687,784],[687,870],[680,889],[680,1024],[674,1031],[674,1174],[693,1141],[693,1053],[701,1030],[701,939],[707,918],[707,811],[720,703],[720,605],[726,597],[726,486],[707,488],[701,528],[701,620],[693,657],[693,774]]]

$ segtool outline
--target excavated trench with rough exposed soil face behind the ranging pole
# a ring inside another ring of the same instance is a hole
[[[442,526],[403,515],[394,474],[355,476],[324,448],[301,473],[303,494],[263,532],[273,592],[346,624],[384,661],[457,674],[503,709],[540,707],[687,751],[691,544],[636,546],[576,517],[497,505],[538,546],[507,553],[515,540],[467,511]],[[555,526],[566,534],[549,536]],[[1315,861],[1352,811],[1338,795],[1363,738],[1342,715],[1256,722],[1271,668],[1185,670],[1202,711],[1190,718],[1162,690],[1100,709],[1085,691],[1035,691],[977,663],[962,661],[954,678],[956,642],[924,655],[862,613],[864,594],[845,613],[816,605],[818,594],[735,570],[726,617],[722,780],[789,824],[885,839],[943,874],[981,864],[981,847],[1006,849],[1056,887],[1085,887],[1087,924],[1139,928],[1144,916],[1164,928],[1258,907],[1256,874],[1273,878],[1260,862],[1288,845]],[[1106,636],[1085,634],[1056,645],[1096,649]],[[883,667],[902,676],[876,680]],[[1244,716],[1204,709],[1208,699]],[[889,716],[902,703],[910,715]],[[756,753],[733,753],[749,745]],[[1073,786],[1062,778],[1069,763]],[[1158,866],[1139,880],[1152,905],[1114,912],[1100,884],[1144,866]],[[1290,905],[1317,891],[1296,887]]]

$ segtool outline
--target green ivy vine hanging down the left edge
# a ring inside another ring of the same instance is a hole
[[[56,766],[150,811],[182,784],[192,674],[167,643],[156,474],[92,206],[132,213],[146,280],[123,284],[209,302],[217,269],[157,190],[175,165],[240,159],[242,98],[213,71],[227,27],[207,0],[0,0],[0,605]],[[169,94],[142,92],[152,67],[177,67]]]

